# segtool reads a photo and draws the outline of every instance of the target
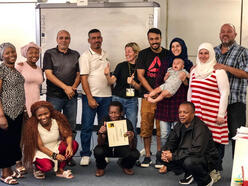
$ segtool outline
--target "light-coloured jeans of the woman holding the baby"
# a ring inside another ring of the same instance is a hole
[[[171,129],[174,128],[174,126],[177,124],[177,121],[174,122],[166,122],[166,121],[160,121],[160,131],[161,131],[161,145],[165,145]]]

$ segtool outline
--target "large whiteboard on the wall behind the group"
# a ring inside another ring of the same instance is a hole
[[[57,45],[57,32],[65,29],[71,34],[70,48],[82,54],[89,48],[88,31],[97,28],[102,33],[102,48],[109,54],[112,70],[125,59],[125,44],[134,41],[141,48],[148,46],[146,32],[158,26],[159,16],[159,4],[154,2],[89,3],[87,7],[71,3],[40,4],[36,9],[37,42],[43,53]]]

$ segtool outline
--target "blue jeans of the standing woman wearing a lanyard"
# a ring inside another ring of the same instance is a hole
[[[119,96],[112,96],[112,101],[119,101],[123,105],[123,113],[132,122],[135,134],[138,114],[138,98],[125,99]]]

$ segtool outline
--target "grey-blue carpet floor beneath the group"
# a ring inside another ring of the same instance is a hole
[[[77,141],[79,140],[79,134],[76,137]],[[92,138],[93,146],[96,144],[96,134],[93,135]],[[138,149],[141,150],[143,148],[142,143],[138,142]],[[79,149],[80,150],[80,149]],[[156,153],[156,143],[155,138],[153,138],[152,143],[152,152]],[[152,156],[153,160],[155,160],[155,156]],[[165,175],[158,174],[157,169],[153,166],[149,168],[140,168],[134,167],[135,175],[127,176],[122,172],[122,169],[117,165],[116,158],[111,158],[110,163],[106,168],[105,175],[103,177],[95,177],[95,162],[93,156],[91,157],[91,164],[88,167],[82,167],[79,165],[80,157],[79,151],[74,158],[77,162],[75,167],[67,167],[68,169],[72,169],[72,172],[75,178],[68,180],[64,178],[58,178],[55,176],[53,172],[46,174],[45,180],[37,180],[30,173],[26,175],[25,178],[19,179],[18,185],[23,186],[90,186],[90,185],[99,185],[99,186],[179,186],[178,183],[179,177],[175,176],[172,172],[169,172]],[[143,157],[140,158],[143,160]],[[154,161],[155,162],[155,161]],[[221,180],[214,184],[216,186],[227,186],[230,185],[231,179],[231,171],[232,171],[232,158],[231,158],[231,145],[226,146],[225,158],[223,163],[224,171],[222,172]],[[181,175],[182,177],[183,175]],[[4,186],[0,182],[0,186]],[[191,184],[195,186],[196,184]]]

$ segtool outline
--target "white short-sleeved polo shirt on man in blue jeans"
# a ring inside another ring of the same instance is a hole
[[[104,69],[109,63],[107,54],[102,50],[101,55],[91,48],[85,51],[79,58],[80,75],[88,75],[88,83],[92,96],[110,97],[111,88],[104,75]],[[85,92],[82,92],[85,95]]]

